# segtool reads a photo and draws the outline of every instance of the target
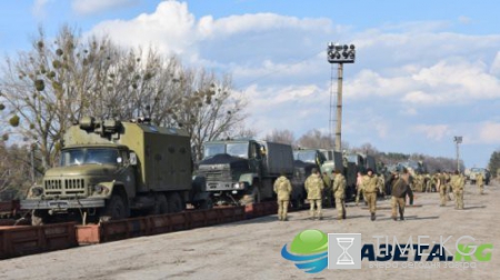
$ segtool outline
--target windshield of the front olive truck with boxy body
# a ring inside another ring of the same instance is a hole
[[[121,162],[121,158],[116,149],[86,148],[63,150],[60,166],[117,164],[119,162]]]

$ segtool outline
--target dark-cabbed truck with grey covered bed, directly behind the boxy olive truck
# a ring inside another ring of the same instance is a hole
[[[208,141],[198,163],[198,181],[216,204],[247,204],[274,196],[274,180],[293,172],[289,144],[253,139]]]

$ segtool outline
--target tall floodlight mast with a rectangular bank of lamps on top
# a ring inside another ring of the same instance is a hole
[[[338,152],[342,152],[342,82],[343,82],[343,63],[354,63],[356,59],[356,49],[354,44],[348,47],[347,44],[333,44],[330,42],[328,44],[328,62],[338,63],[338,72],[337,72],[337,128],[336,128],[336,147],[334,150]],[[333,68],[331,70],[333,72]],[[332,74],[333,76],[333,74]],[[333,83],[333,77],[331,79]],[[332,129],[332,97],[333,92],[330,92],[330,137]]]

